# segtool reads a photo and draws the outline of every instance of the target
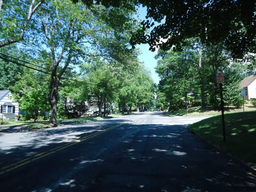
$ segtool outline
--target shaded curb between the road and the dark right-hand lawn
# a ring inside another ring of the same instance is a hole
[[[202,140],[205,144],[209,145],[211,148],[214,149],[214,151],[219,152],[221,155],[226,156],[230,159],[232,159],[236,164],[239,164],[240,166],[242,166],[246,171],[251,172],[252,174],[254,174],[256,176],[256,170],[253,169],[249,164],[245,163],[244,161],[238,159],[237,157],[233,156],[230,153],[227,153],[227,151],[223,150],[222,148],[218,147],[217,145],[211,143],[210,141],[204,139],[204,137],[202,137],[201,135],[199,135],[195,130],[191,130],[187,127],[188,132],[191,132],[193,135],[195,135],[197,138],[199,138],[200,140]]]

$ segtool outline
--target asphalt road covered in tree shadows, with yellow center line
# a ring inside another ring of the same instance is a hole
[[[186,126],[148,112],[37,131],[0,131],[0,191],[256,191],[256,177]]]

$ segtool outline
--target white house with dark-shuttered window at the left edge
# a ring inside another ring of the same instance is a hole
[[[9,90],[0,91],[0,107],[0,119],[14,119],[15,115],[19,115],[19,103],[13,102]]]

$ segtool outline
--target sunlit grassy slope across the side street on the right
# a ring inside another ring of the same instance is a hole
[[[241,108],[235,108],[232,105],[229,107],[225,106],[224,110],[225,110],[225,114],[243,112],[243,106]],[[244,104],[244,112],[246,111],[256,111],[256,108],[254,108],[250,103]],[[170,114],[179,115],[179,116],[190,116],[190,110],[188,108],[188,114],[187,114],[187,109],[181,108],[177,111],[171,111]],[[212,106],[206,106],[205,108],[191,107],[191,116],[215,116],[215,115],[221,115],[221,111],[213,109]]]

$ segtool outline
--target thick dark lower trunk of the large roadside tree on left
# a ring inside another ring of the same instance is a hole
[[[51,105],[51,115],[50,123],[53,126],[57,126],[57,102],[58,102],[58,89],[59,89],[60,79],[57,76],[52,76],[50,82],[50,92],[48,95],[48,100]]]

